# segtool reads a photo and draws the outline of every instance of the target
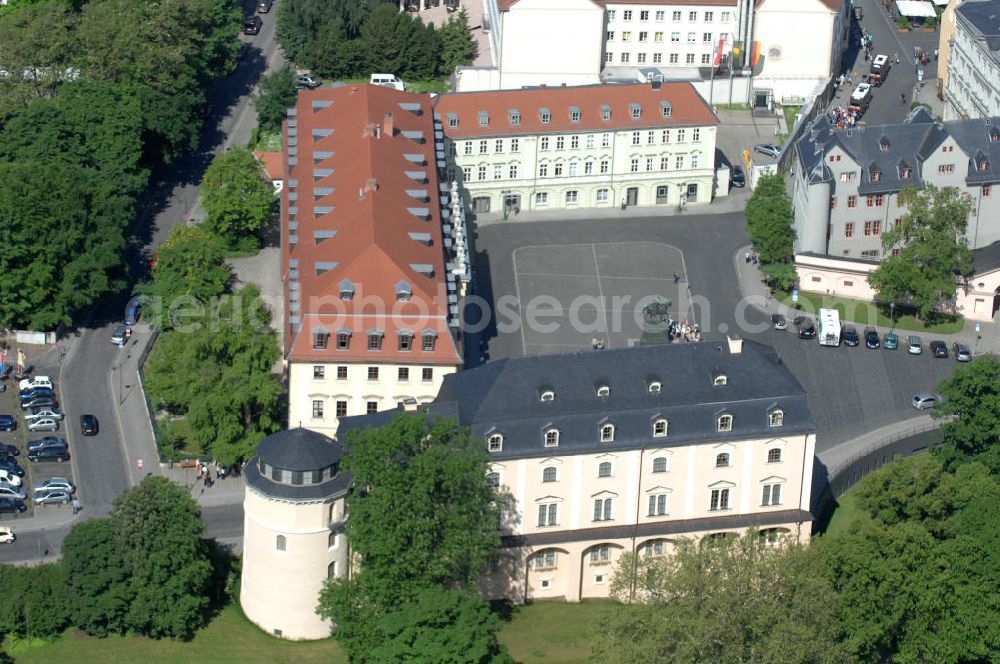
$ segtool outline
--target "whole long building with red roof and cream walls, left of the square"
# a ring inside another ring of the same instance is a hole
[[[281,193],[289,425],[431,401],[462,365],[462,203],[438,179],[432,99],[372,85],[299,94]]]

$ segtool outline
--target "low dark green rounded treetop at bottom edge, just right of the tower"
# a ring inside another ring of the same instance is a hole
[[[501,664],[513,661],[497,642],[499,617],[475,592],[427,588],[382,618],[385,640],[375,662]]]

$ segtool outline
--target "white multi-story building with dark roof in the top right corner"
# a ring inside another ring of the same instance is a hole
[[[1000,1],[955,10],[944,96],[946,120],[1000,114]]]

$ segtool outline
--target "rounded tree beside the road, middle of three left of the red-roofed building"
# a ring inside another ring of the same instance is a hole
[[[209,304],[212,298],[222,295],[232,279],[224,258],[225,252],[216,236],[195,226],[174,227],[157,249],[152,281],[139,288],[139,292],[153,299],[153,306],[146,309],[154,312],[163,329],[191,322],[176,320],[176,303]]]

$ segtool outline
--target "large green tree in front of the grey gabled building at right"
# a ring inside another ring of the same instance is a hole
[[[883,302],[912,303],[926,318],[955,297],[957,277],[972,268],[972,252],[964,241],[972,202],[954,187],[933,185],[907,187],[898,200],[906,213],[882,233],[885,258],[868,275],[868,283]],[[899,250],[896,256],[894,249]]]

